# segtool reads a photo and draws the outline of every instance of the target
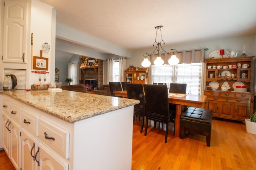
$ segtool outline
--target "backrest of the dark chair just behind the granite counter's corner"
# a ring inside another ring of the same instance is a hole
[[[142,84],[127,83],[126,84],[127,98],[140,100],[139,104],[134,105],[134,111],[139,109],[145,110],[145,98]]]

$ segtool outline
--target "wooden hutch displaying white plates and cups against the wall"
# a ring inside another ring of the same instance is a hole
[[[214,117],[238,120],[244,123],[245,119],[249,118],[249,98],[251,98],[250,112],[253,113],[254,93],[250,92],[253,57],[205,59],[206,86],[211,86],[211,88],[204,90],[204,95],[207,96],[204,108],[212,109]],[[248,68],[242,68],[243,64],[248,64]],[[221,68],[208,69],[208,66],[214,65],[219,65]],[[235,66],[230,68],[229,65]],[[238,65],[241,67],[239,68]],[[230,89],[224,91],[221,87],[226,83]],[[240,90],[235,87],[236,84],[244,84],[246,90],[238,92]]]

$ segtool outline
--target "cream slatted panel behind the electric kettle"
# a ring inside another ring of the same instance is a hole
[[[26,89],[26,70],[23,69],[4,69],[5,74],[14,74],[17,78],[16,89]]]

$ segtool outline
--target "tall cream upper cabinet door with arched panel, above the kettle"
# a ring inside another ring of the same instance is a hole
[[[3,25],[3,61],[26,63],[28,2],[5,1]]]

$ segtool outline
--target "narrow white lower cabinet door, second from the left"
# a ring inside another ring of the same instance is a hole
[[[21,126],[14,121],[13,119],[10,120],[10,159],[12,164],[16,169],[20,169],[20,132]]]

